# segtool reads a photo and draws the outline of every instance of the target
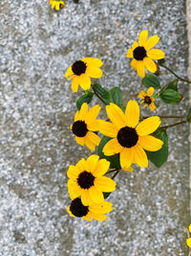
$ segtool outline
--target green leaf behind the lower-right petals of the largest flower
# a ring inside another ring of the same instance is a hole
[[[152,135],[162,140],[163,145],[159,151],[146,151],[146,154],[152,163],[160,167],[168,158],[168,135],[162,128],[158,128]]]

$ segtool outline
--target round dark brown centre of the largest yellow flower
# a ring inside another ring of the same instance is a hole
[[[117,141],[122,147],[132,148],[138,143],[138,133],[135,128],[121,128],[117,133]]]

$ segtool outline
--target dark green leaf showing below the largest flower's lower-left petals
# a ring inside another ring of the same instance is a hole
[[[106,145],[106,143],[108,141],[110,141],[112,138],[109,138],[109,137],[106,137],[106,136],[103,136],[103,138],[101,139],[99,145],[98,145],[98,155],[100,157],[100,159],[102,158],[105,158],[106,160],[108,160],[110,162],[110,168],[111,169],[117,169],[117,170],[120,170],[121,167],[120,167],[120,161],[119,161],[119,153],[117,154],[114,154],[112,156],[106,156],[104,153],[103,153],[103,147]]]

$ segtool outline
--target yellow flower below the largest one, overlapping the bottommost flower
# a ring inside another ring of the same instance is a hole
[[[83,205],[99,204],[104,201],[103,192],[116,190],[116,182],[107,173],[110,162],[92,154],[87,160],[82,158],[75,166],[70,165],[68,190],[70,197],[81,197]]]

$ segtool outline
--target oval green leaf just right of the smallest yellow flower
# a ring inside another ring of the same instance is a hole
[[[159,98],[165,103],[165,104],[178,104],[180,100],[182,99],[182,96],[179,92],[173,90],[173,89],[165,89],[159,94]]]

